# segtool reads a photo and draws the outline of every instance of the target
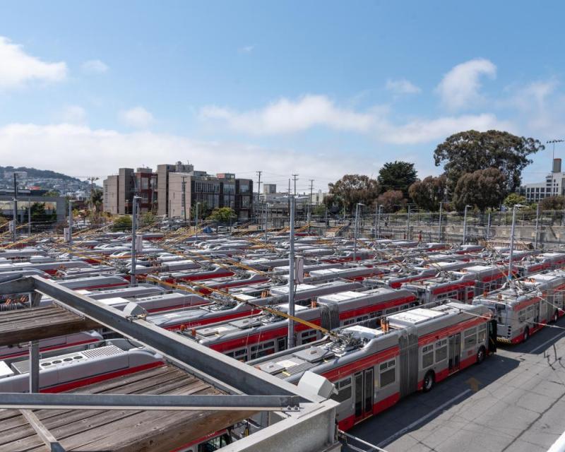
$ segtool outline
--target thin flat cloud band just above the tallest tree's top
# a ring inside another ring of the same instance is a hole
[[[499,121],[494,114],[485,113],[437,119],[415,119],[400,126],[385,122],[379,126],[379,129],[379,136],[383,141],[406,145],[439,142],[453,133],[470,129],[477,131],[491,129],[513,131],[515,126],[510,121]]]

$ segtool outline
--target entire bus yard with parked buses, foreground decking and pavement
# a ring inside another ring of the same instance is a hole
[[[0,451],[541,451],[565,430],[564,252],[204,227],[2,244]]]

